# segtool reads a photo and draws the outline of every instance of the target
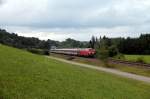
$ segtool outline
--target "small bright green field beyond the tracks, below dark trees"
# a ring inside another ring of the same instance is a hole
[[[150,63],[150,55],[125,55],[125,59],[129,61],[137,61],[138,58],[142,58],[145,63]]]

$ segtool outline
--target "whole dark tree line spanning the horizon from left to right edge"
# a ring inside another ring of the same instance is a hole
[[[0,29],[0,43],[22,48],[22,49],[46,49],[52,46],[57,48],[87,48],[96,49],[97,53],[105,52],[108,56],[114,56],[118,53],[123,54],[143,54],[150,55],[150,34],[141,34],[137,38],[108,38],[92,37],[89,42],[77,41],[71,38],[65,41],[40,40],[35,37],[18,36],[15,33],[9,33],[4,29]]]

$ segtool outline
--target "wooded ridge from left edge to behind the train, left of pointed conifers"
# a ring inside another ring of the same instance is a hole
[[[17,34],[9,33],[4,29],[0,29],[0,43],[22,49],[50,49],[52,46],[56,46],[57,48],[84,48],[89,46],[88,42],[76,41],[70,38],[63,42],[50,39],[39,40],[35,37],[18,36]]]

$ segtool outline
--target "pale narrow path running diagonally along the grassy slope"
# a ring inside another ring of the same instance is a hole
[[[94,65],[87,65],[87,64],[83,64],[83,63],[77,63],[77,62],[68,61],[68,60],[64,60],[64,59],[56,58],[56,57],[51,57],[51,56],[46,56],[46,57],[51,58],[51,59],[55,59],[55,60],[58,60],[58,61],[61,61],[61,62],[65,62],[65,63],[69,63],[69,64],[81,66],[81,67],[96,69],[96,70],[99,70],[99,71],[109,72],[109,73],[120,75],[120,76],[123,76],[123,77],[126,77],[126,78],[131,78],[131,79],[135,79],[135,80],[150,83],[150,77],[131,74],[131,73],[127,73],[127,72],[123,72],[123,71],[119,71],[119,70],[115,70],[115,69],[110,69],[110,68],[104,68],[104,67],[99,67],[99,66],[94,66]]]

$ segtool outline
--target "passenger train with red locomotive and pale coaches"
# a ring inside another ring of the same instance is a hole
[[[66,54],[73,56],[92,57],[96,51],[92,48],[64,48],[64,49],[51,49],[51,53]]]

